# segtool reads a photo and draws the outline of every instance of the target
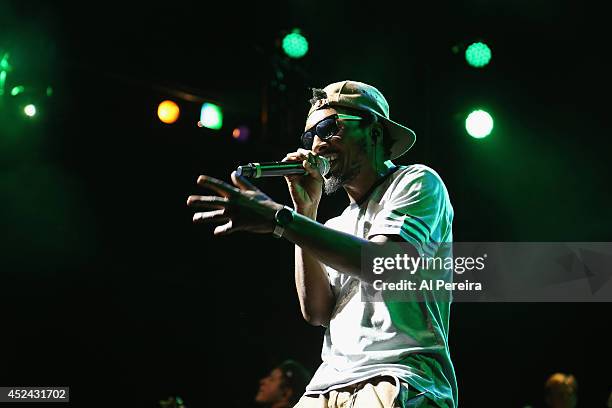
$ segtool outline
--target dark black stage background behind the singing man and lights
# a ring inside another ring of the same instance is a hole
[[[323,331],[300,316],[292,245],[213,239],[185,206],[197,175],[294,150],[311,86],[383,91],[418,136],[398,163],[440,173],[456,241],[610,241],[609,23],[593,4],[492,3],[0,2],[7,86],[26,86],[0,96],[0,383],[68,385],[73,406],[238,407],[285,358],[314,371]],[[293,27],[299,61],[278,48]],[[493,59],[475,70],[462,52],[479,39]],[[200,105],[177,92],[219,103],[223,129],[195,126]],[[483,140],[463,126],[476,107],[495,119]],[[282,180],[258,185],[290,203]],[[346,203],[327,197],[320,220]],[[461,405],[543,406],[563,371],[579,406],[605,406],[611,311],[455,304]]]

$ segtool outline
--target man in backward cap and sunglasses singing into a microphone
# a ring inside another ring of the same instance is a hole
[[[313,90],[303,148],[285,161],[307,174],[287,176],[293,209],[274,202],[233,173],[234,186],[207,176],[216,196],[190,196],[196,223],[221,223],[215,235],[268,233],[295,244],[295,283],[304,319],[326,327],[323,363],[296,407],[456,407],[448,349],[450,301],[370,301],[361,254],[407,243],[412,257],[436,256],[452,242],[453,209],[438,174],[423,165],[395,166],[416,137],[389,117],[373,86],[354,81]],[[330,170],[323,177],[317,161]],[[343,188],[350,205],[316,221],[322,192]],[[447,271],[449,278],[452,271]]]

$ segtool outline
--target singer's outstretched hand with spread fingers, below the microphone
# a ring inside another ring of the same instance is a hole
[[[191,195],[187,205],[199,210],[193,222],[220,223],[215,235],[227,235],[236,231],[271,233],[274,230],[274,214],[283,208],[247,179],[231,175],[233,186],[209,176],[198,177],[198,186],[213,190],[217,195]]]

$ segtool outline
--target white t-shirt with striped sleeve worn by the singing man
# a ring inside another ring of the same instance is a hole
[[[453,208],[440,176],[427,166],[399,167],[370,193],[325,223],[358,237],[400,235],[420,255],[440,256],[435,243],[452,242]],[[442,247],[440,247],[442,248]],[[448,351],[449,301],[362,301],[368,285],[326,266],[336,305],[325,332],[323,363],[306,394],[323,394],[390,375],[425,391],[441,407],[457,405]],[[450,280],[452,271],[447,273]]]

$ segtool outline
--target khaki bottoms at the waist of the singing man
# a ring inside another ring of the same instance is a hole
[[[427,408],[429,399],[393,377],[375,377],[320,395],[304,395],[294,408]]]

